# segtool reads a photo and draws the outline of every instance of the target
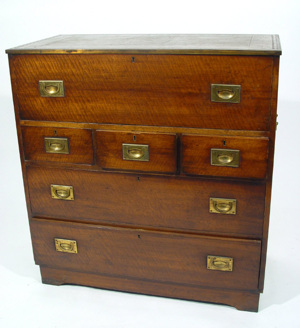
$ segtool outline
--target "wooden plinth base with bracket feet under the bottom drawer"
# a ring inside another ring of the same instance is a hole
[[[42,282],[50,285],[72,283],[111,290],[172,297],[183,300],[222,303],[241,311],[258,311],[259,293],[150,281],[40,266]]]

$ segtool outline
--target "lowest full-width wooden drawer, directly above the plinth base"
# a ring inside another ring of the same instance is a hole
[[[30,226],[34,258],[39,265],[183,284],[257,290],[260,241],[41,219],[32,219]],[[208,256],[211,257],[209,263]],[[224,259],[217,262],[217,257]],[[211,265],[226,267],[226,261],[232,262],[232,270],[208,269]]]

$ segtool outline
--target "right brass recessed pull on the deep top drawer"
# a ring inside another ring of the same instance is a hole
[[[211,101],[240,103],[240,85],[211,84]]]

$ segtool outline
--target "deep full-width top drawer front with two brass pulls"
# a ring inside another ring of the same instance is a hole
[[[14,55],[21,119],[257,131],[270,128],[272,61],[247,55],[137,54],[134,61],[124,54]]]

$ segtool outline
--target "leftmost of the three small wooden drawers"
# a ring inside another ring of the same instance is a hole
[[[94,164],[90,129],[22,126],[26,161]]]

